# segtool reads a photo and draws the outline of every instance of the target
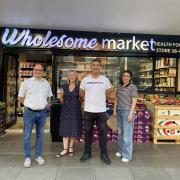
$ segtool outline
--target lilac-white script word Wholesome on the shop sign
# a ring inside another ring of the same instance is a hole
[[[5,32],[2,36],[2,43],[4,45],[18,45],[25,47],[65,47],[67,49],[71,48],[83,48],[83,49],[94,49],[98,45],[97,39],[87,39],[87,38],[73,38],[68,37],[63,34],[62,36],[51,36],[51,31],[48,31],[46,36],[39,34],[31,35],[29,29],[22,30],[21,32],[18,29],[13,29],[12,33],[8,28],[5,29]]]

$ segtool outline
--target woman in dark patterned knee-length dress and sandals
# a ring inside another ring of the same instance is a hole
[[[82,135],[81,105],[76,71],[69,71],[68,84],[63,85],[60,90],[60,101],[62,102],[60,135],[63,137],[64,149],[56,157],[67,154],[73,156],[74,140]]]

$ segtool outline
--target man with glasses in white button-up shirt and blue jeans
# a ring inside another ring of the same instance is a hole
[[[33,68],[33,77],[26,79],[20,87],[18,99],[24,105],[24,166],[31,167],[31,133],[36,124],[35,160],[44,165],[41,157],[44,143],[44,128],[47,116],[48,101],[52,96],[50,84],[43,77],[43,66],[36,64]]]

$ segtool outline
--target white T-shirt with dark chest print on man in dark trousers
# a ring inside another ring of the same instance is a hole
[[[84,111],[106,112],[106,90],[111,88],[109,79],[103,75],[94,79],[91,75],[83,78],[80,88],[85,91]]]

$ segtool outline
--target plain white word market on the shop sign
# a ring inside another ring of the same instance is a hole
[[[119,39],[115,41],[114,39],[103,39],[102,48],[103,49],[113,49],[113,50],[143,50],[143,51],[155,51],[154,48],[155,41],[151,39],[150,41],[140,41],[136,40],[133,36],[132,40]]]

